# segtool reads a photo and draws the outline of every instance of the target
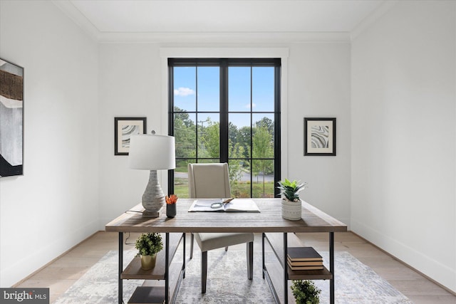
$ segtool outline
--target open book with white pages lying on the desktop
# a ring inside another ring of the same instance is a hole
[[[189,212],[259,212],[257,204],[252,199],[233,199],[229,203],[214,208],[214,203],[220,203],[223,199],[195,199]],[[216,205],[215,205],[216,206]]]

